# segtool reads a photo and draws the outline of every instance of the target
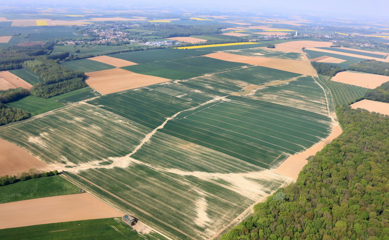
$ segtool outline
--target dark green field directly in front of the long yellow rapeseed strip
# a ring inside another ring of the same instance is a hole
[[[170,60],[182,59],[187,57],[201,56],[205,54],[209,54],[209,52],[169,48],[169,49],[123,52],[123,53],[110,54],[109,56],[141,64],[141,63],[152,63],[152,62],[159,62],[159,61],[170,61]]]

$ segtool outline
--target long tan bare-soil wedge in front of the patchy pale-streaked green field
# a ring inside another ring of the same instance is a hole
[[[253,64],[253,65],[264,66],[268,68],[275,68],[279,70],[289,71],[292,73],[300,73],[303,75],[317,76],[316,71],[308,61],[277,59],[277,58],[268,58],[268,57],[251,57],[251,56],[229,54],[226,52],[214,52],[205,56],[213,57],[224,61],[247,63],[247,64]]]

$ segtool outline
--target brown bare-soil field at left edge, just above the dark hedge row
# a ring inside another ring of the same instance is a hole
[[[45,172],[52,170],[46,164],[23,150],[23,148],[0,139],[0,177],[28,172],[28,169],[31,168]]]

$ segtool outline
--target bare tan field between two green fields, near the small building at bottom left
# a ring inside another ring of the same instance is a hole
[[[124,215],[89,193],[2,203],[0,212],[0,229]]]

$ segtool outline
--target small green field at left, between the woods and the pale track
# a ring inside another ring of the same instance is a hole
[[[32,115],[38,115],[56,108],[60,108],[63,106],[63,104],[52,101],[51,99],[27,96],[18,101],[8,103],[7,106],[12,108],[20,108],[22,110],[28,111]]]

